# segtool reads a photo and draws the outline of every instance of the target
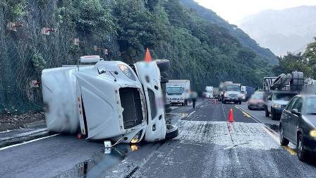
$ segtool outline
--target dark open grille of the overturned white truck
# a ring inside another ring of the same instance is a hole
[[[120,88],[121,106],[123,111],[124,129],[142,124],[142,102],[138,88]]]

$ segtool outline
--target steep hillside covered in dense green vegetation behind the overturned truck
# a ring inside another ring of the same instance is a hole
[[[154,59],[171,61],[170,79],[189,79],[193,90],[220,81],[260,85],[274,55],[221,18],[199,14],[180,0],[1,1],[0,112],[42,109],[44,86],[30,85],[42,69],[77,64],[84,55],[131,64],[147,47]]]

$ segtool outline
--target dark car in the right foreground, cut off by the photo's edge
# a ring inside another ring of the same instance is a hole
[[[298,159],[316,151],[316,95],[298,95],[288,103],[279,124],[281,146],[296,144]]]

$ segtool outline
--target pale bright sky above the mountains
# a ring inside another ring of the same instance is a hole
[[[316,6],[316,0],[194,0],[229,23],[240,25],[246,16],[267,9],[282,10],[296,6]]]

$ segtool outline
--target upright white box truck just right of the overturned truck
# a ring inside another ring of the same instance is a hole
[[[180,103],[187,105],[190,97],[190,81],[189,80],[169,80],[166,83],[166,102],[173,104]]]

